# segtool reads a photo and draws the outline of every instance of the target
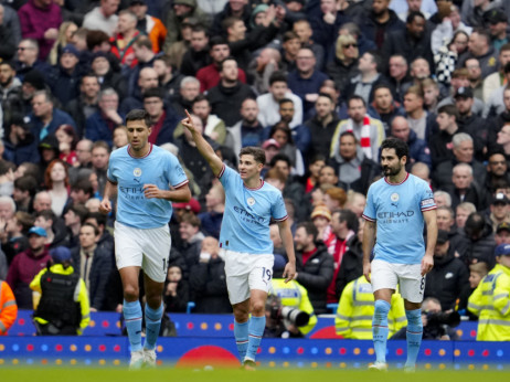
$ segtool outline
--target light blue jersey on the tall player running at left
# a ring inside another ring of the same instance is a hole
[[[107,177],[118,185],[117,221],[136,229],[156,229],[168,224],[172,215],[172,203],[163,199],[146,199],[144,184],[156,184],[169,190],[188,183],[178,159],[150,145],[142,158],[131,157],[129,146],[121,147],[109,157]]]

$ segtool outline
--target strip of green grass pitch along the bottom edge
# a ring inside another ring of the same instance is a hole
[[[314,382],[314,381],[391,381],[391,382],[467,382],[467,381],[509,381],[509,372],[484,371],[417,371],[405,374],[402,371],[387,373],[368,370],[320,370],[320,369],[279,369],[244,371],[232,369],[188,370],[158,368],[152,370],[128,371],[126,369],[88,368],[0,368],[3,382],[130,382],[130,381],[171,381],[171,382]]]

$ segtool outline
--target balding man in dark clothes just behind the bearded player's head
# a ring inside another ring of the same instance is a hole
[[[418,139],[416,134],[411,130],[407,119],[396,116],[391,125],[391,136],[399,138],[407,144],[410,148],[410,158],[405,163],[411,170],[412,166],[422,162],[432,168],[431,150],[423,139]]]

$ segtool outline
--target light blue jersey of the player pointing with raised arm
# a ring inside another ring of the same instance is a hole
[[[277,222],[287,219],[281,192],[264,181],[259,188],[248,189],[241,176],[225,165],[217,178],[226,195],[220,247],[248,254],[272,254],[270,217]]]

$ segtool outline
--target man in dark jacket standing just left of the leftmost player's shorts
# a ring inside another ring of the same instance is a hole
[[[114,267],[110,246],[97,245],[99,230],[91,223],[79,229],[79,245],[71,251],[76,273],[85,282],[91,299],[91,311],[104,309],[108,277]]]

